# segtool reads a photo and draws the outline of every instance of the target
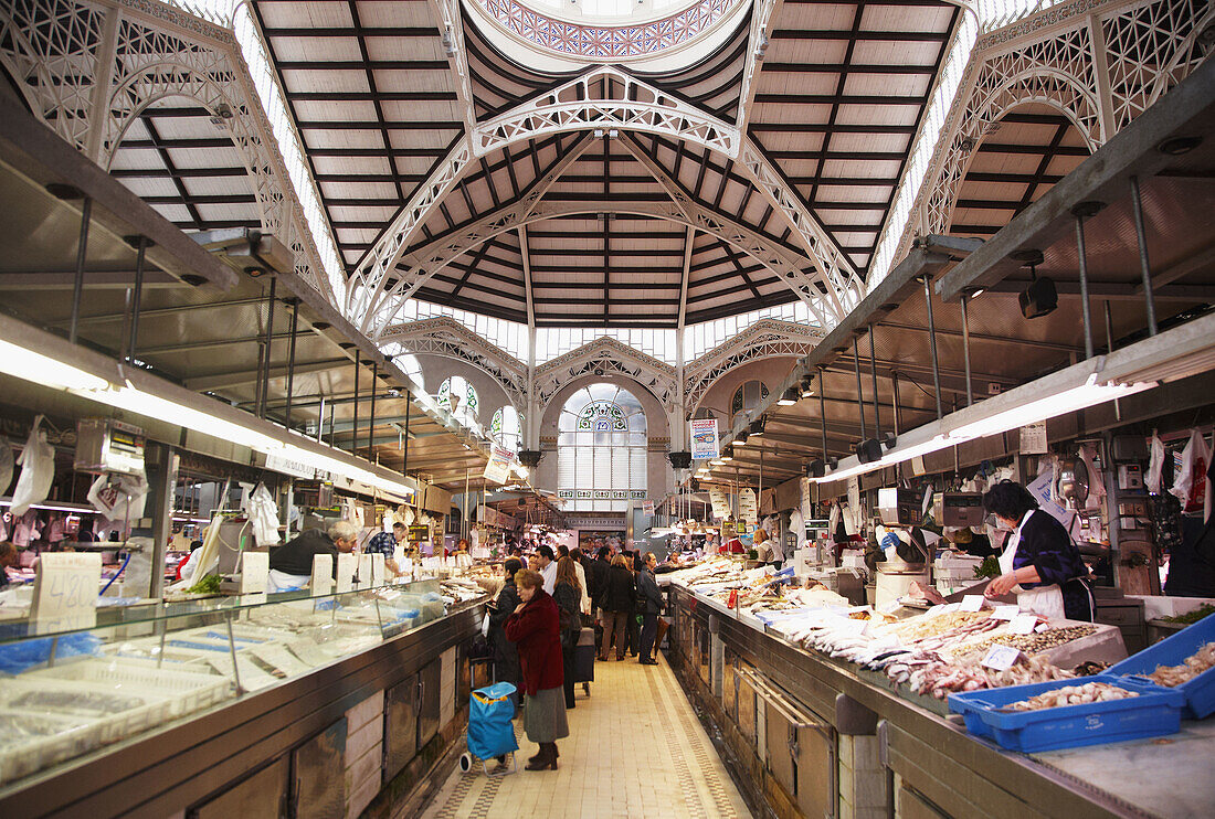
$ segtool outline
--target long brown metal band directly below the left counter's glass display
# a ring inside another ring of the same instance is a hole
[[[479,632],[482,616],[480,602],[453,607],[364,652],[34,774],[0,790],[0,815],[163,819],[182,809],[204,815],[210,801],[289,757],[355,705],[437,666],[445,652]],[[437,730],[434,688],[431,698],[419,696],[418,707],[420,713],[430,703]],[[414,743],[409,758],[428,739]],[[409,758],[399,757],[397,770]],[[384,772],[382,781],[395,773]]]

